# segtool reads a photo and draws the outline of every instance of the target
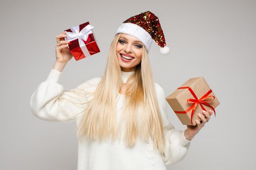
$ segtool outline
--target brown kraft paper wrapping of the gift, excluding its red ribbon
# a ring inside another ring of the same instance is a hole
[[[206,83],[205,79],[203,77],[196,77],[196,78],[191,78],[188,81],[186,81],[183,85],[180,87],[185,87],[189,86],[194,93],[197,96],[197,99],[199,100],[205,93],[207,93],[210,90],[209,85]],[[216,108],[217,105],[219,105],[219,101],[217,100],[217,97],[214,95],[213,92],[211,92],[208,96],[214,96],[215,99],[212,102],[208,102],[212,107]],[[188,88],[184,89],[176,89],[172,94],[170,94],[168,97],[165,98],[166,101],[169,103],[169,105],[172,107],[174,111],[185,111],[187,110],[192,104],[188,103],[188,99],[195,99],[194,96],[191,94]],[[211,101],[213,97],[210,99],[207,99],[206,101]],[[212,110],[212,108],[206,104],[202,104],[203,107],[206,109],[207,112],[209,110]],[[197,105],[197,108],[195,109],[195,112],[193,114],[192,118],[192,124],[191,124],[191,109],[188,113],[186,114],[180,114],[180,113],[175,113],[178,117],[178,119],[181,121],[183,125],[197,125],[196,119],[201,120],[198,117],[198,113],[202,114],[202,108],[200,104]],[[213,113],[214,115],[214,113]],[[204,115],[203,115],[204,116]]]

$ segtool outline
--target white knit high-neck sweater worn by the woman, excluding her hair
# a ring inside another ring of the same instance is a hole
[[[131,73],[122,71],[123,83]],[[81,102],[81,100],[72,97],[71,95],[74,93],[63,92],[63,85],[59,84],[61,74],[62,72],[51,69],[46,81],[40,83],[31,97],[31,111],[39,119],[76,121],[78,124],[81,114],[76,115],[76,113],[81,112],[86,104],[77,104],[76,102]],[[100,80],[101,77],[92,78],[72,90],[93,91]],[[191,140],[187,140],[184,131],[175,130],[175,127],[169,122],[166,112],[168,103],[165,100],[164,90],[157,83],[155,83],[155,89],[166,139],[165,156],[154,151],[151,139],[149,142],[138,139],[132,148],[126,147],[122,140],[117,140],[114,143],[111,143],[111,140],[98,143],[84,139],[78,143],[78,170],[166,170],[165,165],[174,164],[185,157]],[[75,102],[59,99],[59,97],[70,96],[70,99]],[[124,97],[124,95],[118,94],[117,116],[120,115]]]

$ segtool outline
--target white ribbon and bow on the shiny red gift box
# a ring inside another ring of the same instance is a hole
[[[83,54],[85,56],[89,56],[91,55],[88,51],[88,49],[86,48],[84,41],[87,40],[89,34],[93,33],[92,32],[92,29],[94,28],[94,26],[88,24],[86,25],[86,27],[84,27],[80,32],[79,32],[79,25],[78,26],[75,26],[75,27],[71,27],[70,30],[72,32],[67,32],[66,33],[66,38],[68,41],[72,41],[72,40],[75,40],[75,39],[78,39],[79,41],[79,46],[83,52]]]

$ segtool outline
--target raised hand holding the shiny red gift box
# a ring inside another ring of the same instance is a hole
[[[68,43],[65,41],[66,32],[63,32],[56,36],[57,45],[55,47],[56,61],[59,63],[67,63],[73,57],[72,53],[68,49]]]

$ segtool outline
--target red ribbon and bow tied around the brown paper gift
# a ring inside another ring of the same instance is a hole
[[[196,110],[196,108],[197,108],[197,105],[199,104],[199,105],[201,106],[201,108],[202,108],[204,111],[206,111],[206,109],[205,109],[205,108],[203,107],[203,105],[202,105],[202,104],[205,104],[205,105],[208,105],[209,107],[211,107],[211,108],[213,109],[214,115],[215,115],[215,117],[216,117],[214,107],[213,107],[212,105],[208,104],[208,102],[212,102],[212,101],[215,99],[215,96],[208,96],[209,94],[211,94],[212,89],[210,89],[207,93],[205,93],[205,94],[198,100],[197,95],[195,94],[195,92],[194,92],[190,87],[178,87],[177,89],[183,89],[183,88],[189,89],[190,93],[193,95],[193,97],[194,97],[195,99],[188,99],[188,100],[187,100],[187,102],[188,102],[189,104],[192,104],[187,110],[185,110],[185,111],[174,111],[175,113],[178,113],[178,114],[180,114],[180,113],[185,113],[185,114],[186,114],[186,113],[188,113],[191,109],[193,109],[193,110],[192,110],[192,113],[191,113],[191,124],[193,124],[193,123],[192,123],[192,118],[193,118],[193,114],[194,114],[194,112],[195,112],[195,110]],[[211,97],[213,97],[212,100],[206,101],[208,98],[211,98]]]

